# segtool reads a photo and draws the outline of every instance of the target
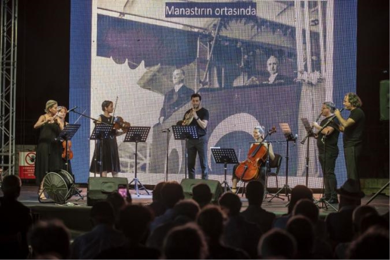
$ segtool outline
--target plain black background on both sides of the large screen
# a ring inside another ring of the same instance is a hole
[[[379,81],[389,79],[389,0],[357,5],[357,94],[366,113],[363,178],[389,178],[389,121],[379,120]],[[69,108],[70,0],[19,0],[17,144],[36,144],[47,100]]]

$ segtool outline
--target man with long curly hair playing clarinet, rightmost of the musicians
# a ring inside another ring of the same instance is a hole
[[[339,120],[340,130],[344,132],[344,157],[347,166],[347,178],[359,182],[359,157],[363,149],[363,130],[365,115],[362,106],[362,101],[354,93],[347,93],[343,101],[344,107],[351,111],[350,117],[345,120],[338,109],[334,111],[334,115]]]

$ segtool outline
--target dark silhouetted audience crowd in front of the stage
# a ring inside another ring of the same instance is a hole
[[[337,189],[339,210],[324,222],[312,191],[303,185],[292,189],[288,215],[275,219],[262,208],[264,186],[258,181],[247,184],[248,207],[241,213],[233,193],[213,205],[204,183],[194,187],[194,199],[184,200],[177,182],[161,182],[154,206],[132,205],[119,194],[96,203],[90,211],[93,229],[70,245],[60,220],[31,228],[30,210],[17,200],[21,181],[7,176],[0,198],[1,258],[389,259],[389,220],[374,207],[358,206],[364,194],[357,184],[349,179]],[[163,213],[154,219],[158,211]]]

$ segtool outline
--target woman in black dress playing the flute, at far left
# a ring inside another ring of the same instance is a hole
[[[40,199],[46,199],[42,192],[43,178],[48,172],[62,169],[62,146],[56,138],[64,124],[58,120],[57,106],[57,101],[47,101],[46,114],[41,115],[34,125],[34,129],[40,129],[34,172]]]

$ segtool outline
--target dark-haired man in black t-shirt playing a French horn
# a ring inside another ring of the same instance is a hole
[[[202,179],[208,179],[208,162],[207,162],[207,123],[209,121],[209,111],[201,105],[202,97],[195,93],[191,95],[193,107],[188,110],[182,121],[182,125],[195,125],[198,139],[189,139],[187,141],[187,168],[188,177],[195,179],[195,161],[196,153],[199,154],[200,167],[202,169]]]

